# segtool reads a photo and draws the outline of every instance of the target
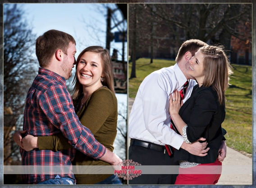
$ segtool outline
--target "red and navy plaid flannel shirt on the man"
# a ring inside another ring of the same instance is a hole
[[[23,130],[33,136],[50,136],[62,132],[69,143],[87,156],[100,158],[105,154],[105,147],[100,144],[87,127],[82,126],[71,96],[66,87],[66,80],[50,70],[39,68],[38,75],[29,88],[23,118]],[[26,152],[20,148],[22,165],[29,166],[68,166],[69,173],[58,174],[60,177],[74,178],[72,161],[76,149],[57,152],[38,150]],[[37,184],[55,178],[57,174],[24,174],[25,184]]]

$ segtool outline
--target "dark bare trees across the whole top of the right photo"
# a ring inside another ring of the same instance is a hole
[[[133,6],[139,8],[142,4]],[[188,39],[200,39],[208,44],[219,43],[227,50],[231,50],[231,38],[234,37],[244,41],[247,48],[251,46],[251,33],[241,35],[242,29],[238,27],[241,24],[245,26],[247,23],[246,28],[251,31],[249,24],[251,23],[251,4],[144,4],[143,6],[140,13],[146,22],[137,25],[137,31],[144,36],[152,34],[152,27],[148,26],[151,20],[154,20],[157,26],[150,40],[148,40],[149,37],[143,40],[136,37],[136,46],[145,49],[153,43],[154,51],[158,51],[163,58],[167,57],[164,54],[169,53],[167,58],[174,59],[180,45]],[[133,9],[130,9],[131,16],[133,12]],[[132,22],[132,18],[130,20]],[[142,32],[140,28],[143,29]],[[131,23],[129,30],[133,31],[133,29],[134,26]],[[244,27],[243,30],[245,30]],[[130,44],[129,48],[133,54],[133,44]],[[143,57],[150,57],[150,55],[146,56],[144,53]]]

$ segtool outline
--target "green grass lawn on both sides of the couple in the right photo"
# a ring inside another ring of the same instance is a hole
[[[135,98],[142,80],[151,72],[175,64],[175,61],[140,58],[136,61],[137,78],[129,79],[129,97]],[[222,127],[226,129],[227,145],[237,151],[252,153],[252,67],[232,64],[232,84],[225,95],[226,118]],[[129,63],[129,75],[132,62]]]

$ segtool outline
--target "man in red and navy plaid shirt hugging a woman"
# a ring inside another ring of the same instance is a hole
[[[27,93],[23,130],[33,136],[62,132],[74,149],[57,152],[33,149],[27,152],[20,148],[22,165],[40,167],[34,174],[23,175],[25,184],[75,184],[71,162],[76,149],[112,165],[122,162],[116,154],[95,140],[75,114],[66,87],[66,79],[71,77],[73,65],[76,64],[75,53],[75,40],[62,31],[50,30],[37,38],[36,54],[41,67]],[[45,173],[44,168],[56,169],[56,166],[57,171],[62,173]],[[68,167],[68,173],[64,173],[64,167]]]

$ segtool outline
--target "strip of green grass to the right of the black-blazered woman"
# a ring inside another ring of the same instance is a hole
[[[232,84],[226,91],[226,118],[222,127],[227,130],[227,145],[238,151],[252,153],[252,67],[235,67]]]

